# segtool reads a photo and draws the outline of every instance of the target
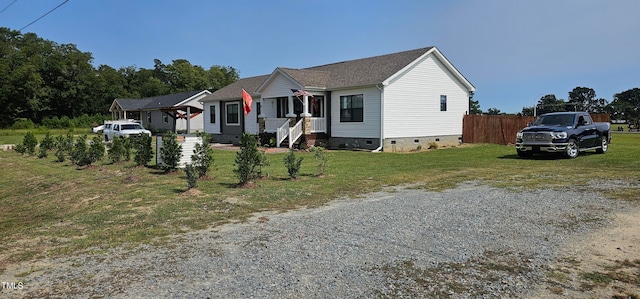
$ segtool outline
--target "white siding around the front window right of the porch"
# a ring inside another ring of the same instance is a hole
[[[340,97],[364,95],[363,121],[340,122]],[[380,138],[380,91],[375,88],[339,90],[331,93],[331,136]]]

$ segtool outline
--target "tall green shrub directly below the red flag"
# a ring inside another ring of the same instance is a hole
[[[256,138],[251,134],[242,133],[240,151],[236,153],[236,168],[233,170],[240,181],[240,185],[244,185],[257,177],[260,161]]]

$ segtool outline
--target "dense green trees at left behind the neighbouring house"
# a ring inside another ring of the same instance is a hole
[[[145,98],[193,90],[216,91],[239,75],[230,66],[205,69],[186,59],[154,68],[93,66],[90,52],[0,27],[0,128],[21,119],[107,114],[116,98]]]

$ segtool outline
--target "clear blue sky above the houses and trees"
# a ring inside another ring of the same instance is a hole
[[[63,0],[0,0],[18,30]],[[13,4],[12,4],[13,3]],[[482,110],[520,112],[577,86],[640,87],[637,0],[69,0],[24,29],[91,52],[94,65],[187,59],[241,77],[436,46]]]

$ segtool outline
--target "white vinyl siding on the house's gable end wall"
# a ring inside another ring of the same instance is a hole
[[[440,96],[447,109],[440,111]],[[384,138],[461,135],[468,91],[433,54],[384,88]]]

